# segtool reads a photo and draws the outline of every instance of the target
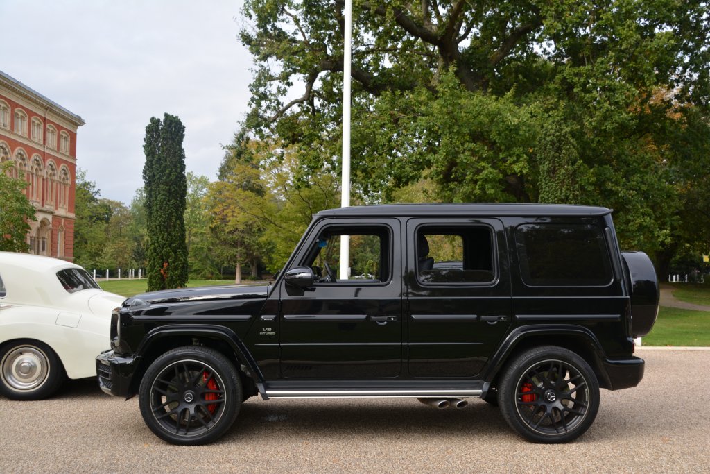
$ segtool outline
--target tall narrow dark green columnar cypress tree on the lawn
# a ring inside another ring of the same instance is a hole
[[[187,284],[184,138],[185,126],[174,115],[165,114],[163,122],[151,117],[146,126],[143,181],[148,220],[148,291]]]

